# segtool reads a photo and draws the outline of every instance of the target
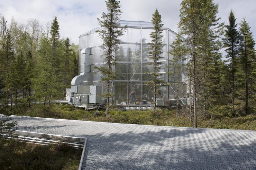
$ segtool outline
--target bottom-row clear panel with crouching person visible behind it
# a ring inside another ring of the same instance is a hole
[[[129,82],[128,83],[128,102],[130,105],[140,104],[140,86],[141,82]]]

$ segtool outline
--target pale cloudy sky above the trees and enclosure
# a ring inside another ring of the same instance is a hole
[[[157,8],[162,15],[165,27],[177,31],[181,0],[121,0],[121,20],[150,21]],[[227,23],[232,9],[240,22],[244,17],[256,36],[256,0],[214,0],[219,4],[218,17]],[[51,21],[54,16],[60,23],[62,37],[70,37],[79,42],[78,36],[98,27],[97,17],[101,17],[105,0],[0,0],[0,13],[8,21],[14,17],[19,23],[28,19],[37,19],[41,25]],[[10,22],[9,22],[10,23]]]

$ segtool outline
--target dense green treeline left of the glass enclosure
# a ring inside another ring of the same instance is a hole
[[[30,107],[32,102],[64,99],[65,88],[78,74],[78,45],[61,38],[60,25],[41,26],[35,19],[26,24],[0,15],[0,83],[8,103]]]

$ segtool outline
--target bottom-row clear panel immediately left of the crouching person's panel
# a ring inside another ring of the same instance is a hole
[[[127,82],[115,82],[115,104],[127,105]]]

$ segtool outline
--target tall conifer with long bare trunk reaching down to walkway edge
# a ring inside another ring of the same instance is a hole
[[[196,70],[198,62],[198,38],[200,35],[200,10],[201,0],[183,0],[180,9],[179,28],[182,35],[186,35],[186,45],[188,45],[190,53],[190,63],[192,65],[191,77],[193,86],[193,106],[194,106],[194,127],[197,126],[196,120],[196,86],[198,85]]]

